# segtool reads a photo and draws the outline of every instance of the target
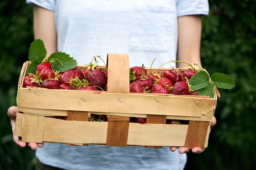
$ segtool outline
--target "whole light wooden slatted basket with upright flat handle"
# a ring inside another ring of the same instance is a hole
[[[18,84],[15,135],[38,143],[207,147],[218,91],[214,98],[129,93],[128,55],[109,53],[107,65],[107,92],[76,91],[24,88],[29,66],[25,62]],[[108,121],[88,121],[91,114],[107,115]],[[146,124],[130,123],[130,117],[146,117]],[[166,124],[166,119],[189,123]]]

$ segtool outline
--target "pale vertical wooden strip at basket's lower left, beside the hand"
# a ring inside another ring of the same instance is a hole
[[[44,116],[25,114],[22,141],[42,143],[44,119]]]

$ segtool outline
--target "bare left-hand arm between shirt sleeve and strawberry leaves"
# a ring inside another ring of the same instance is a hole
[[[57,51],[54,11],[34,5],[34,38],[43,40],[47,50],[46,57]]]

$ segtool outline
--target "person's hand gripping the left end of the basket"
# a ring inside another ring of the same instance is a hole
[[[16,113],[17,113],[18,107],[17,106],[11,106],[9,107],[7,111],[7,115],[11,119],[11,130],[13,134],[13,141],[20,147],[24,148],[26,145],[29,146],[32,150],[36,150],[37,147],[41,148],[43,147],[43,143],[35,143],[30,142],[26,144],[25,142],[19,141],[17,136],[14,136],[14,130],[15,130],[15,121],[16,121]]]

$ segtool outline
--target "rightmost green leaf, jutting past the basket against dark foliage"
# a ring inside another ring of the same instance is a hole
[[[235,87],[234,80],[223,73],[213,73],[211,75],[211,81],[218,88],[231,89]]]

